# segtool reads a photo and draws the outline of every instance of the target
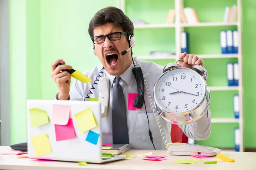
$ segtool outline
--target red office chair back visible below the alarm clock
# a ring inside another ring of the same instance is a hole
[[[171,139],[172,143],[188,143],[189,138],[183,133],[178,125],[171,124]]]

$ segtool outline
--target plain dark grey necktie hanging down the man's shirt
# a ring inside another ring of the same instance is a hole
[[[129,144],[125,98],[122,86],[119,84],[121,77],[115,79],[112,100],[113,144]]]

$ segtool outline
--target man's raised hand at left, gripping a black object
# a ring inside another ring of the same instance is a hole
[[[64,65],[59,65],[58,67],[56,67],[56,65],[60,62]],[[59,90],[58,100],[67,100],[70,92],[71,76],[67,71],[61,72],[61,70],[72,69],[72,66],[66,65],[63,59],[57,59],[52,62],[51,68],[52,79],[54,79]]]

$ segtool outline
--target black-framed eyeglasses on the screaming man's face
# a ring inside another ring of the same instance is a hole
[[[91,39],[94,44],[101,44],[101,43],[105,42],[106,37],[108,37],[108,40],[111,40],[111,41],[120,40],[122,34],[127,35],[126,32],[113,32],[113,33],[110,33],[107,35],[99,35],[99,36],[91,37]]]

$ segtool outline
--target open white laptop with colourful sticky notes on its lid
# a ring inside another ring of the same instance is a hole
[[[93,117],[96,125],[91,123],[90,127],[84,126],[88,125],[84,119]],[[99,102],[28,100],[27,129],[30,158],[90,163],[105,163],[127,158],[102,157]]]

